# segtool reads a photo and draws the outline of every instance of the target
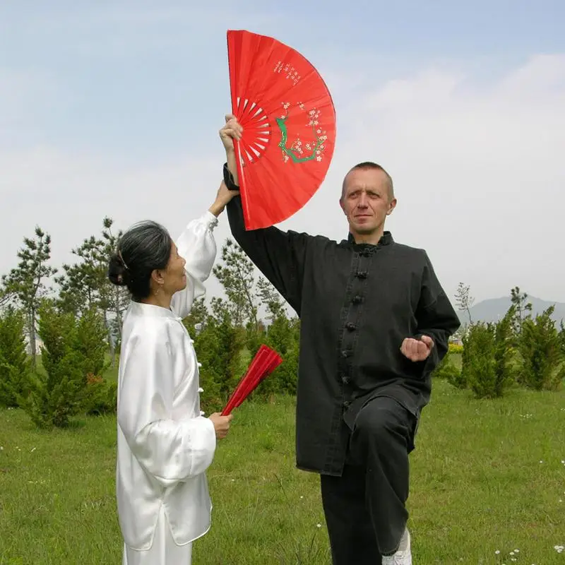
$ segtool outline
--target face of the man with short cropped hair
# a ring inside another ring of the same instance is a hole
[[[396,206],[388,178],[379,169],[354,169],[347,173],[340,205],[355,235],[377,234]]]

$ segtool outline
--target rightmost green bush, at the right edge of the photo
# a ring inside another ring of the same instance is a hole
[[[522,321],[518,350],[522,357],[520,381],[535,390],[557,390],[565,377],[561,336],[551,316],[554,307]]]

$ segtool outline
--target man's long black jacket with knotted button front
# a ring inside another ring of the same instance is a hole
[[[227,187],[237,189],[227,167]],[[429,402],[430,373],[460,326],[426,252],[393,241],[246,231],[241,198],[227,206],[232,235],[300,317],[297,467],[340,475],[360,408],[395,398],[415,416]],[[400,353],[407,337],[435,343],[425,362]]]

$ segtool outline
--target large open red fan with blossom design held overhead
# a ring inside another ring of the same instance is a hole
[[[265,35],[227,32],[232,114],[246,230],[290,218],[319,189],[335,146],[326,83],[295,49]]]

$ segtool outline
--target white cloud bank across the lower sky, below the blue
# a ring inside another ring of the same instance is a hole
[[[338,143],[328,178],[282,227],[345,237],[343,174],[376,160],[395,180],[394,237],[429,251],[448,292],[462,280],[477,299],[519,285],[565,301],[565,55],[533,57],[496,83],[473,78],[465,69],[432,67],[379,87],[356,83],[355,98],[336,88]],[[52,234],[57,264],[100,230],[104,215],[119,227],[150,217],[177,233],[210,203],[221,165],[219,145],[215,155],[133,164],[48,146],[1,153],[8,212],[0,272],[15,263],[36,223]],[[220,240],[226,225],[222,218]]]

